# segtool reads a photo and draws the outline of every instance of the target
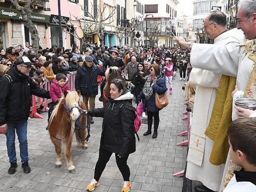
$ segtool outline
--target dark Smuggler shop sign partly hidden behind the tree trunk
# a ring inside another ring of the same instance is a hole
[[[50,16],[49,15],[42,15],[38,13],[32,13],[31,14],[32,21],[38,22],[38,23],[49,23]],[[0,18],[6,18],[6,19],[13,19],[13,20],[22,20],[22,16],[20,11],[16,9],[9,9],[0,7]]]

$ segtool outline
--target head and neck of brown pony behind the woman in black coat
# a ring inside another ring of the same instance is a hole
[[[113,79],[119,79],[120,78],[120,71],[117,66],[111,66],[107,68],[106,72],[106,84],[103,89],[103,106],[105,106],[108,102],[108,97],[110,96],[110,83]]]

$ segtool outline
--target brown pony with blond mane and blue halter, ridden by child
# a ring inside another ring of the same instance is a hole
[[[81,115],[83,109],[86,109],[85,104],[80,102],[80,92],[64,91],[64,98],[55,106],[49,120],[50,139],[55,145],[57,159],[55,162],[56,168],[62,166],[62,150],[66,157],[67,169],[74,173],[75,166],[71,160],[71,144],[75,132],[77,145],[87,148],[87,130],[79,129],[75,131],[75,123],[80,118],[79,125],[85,123],[87,127],[87,116]],[[82,138],[82,139],[81,139]]]

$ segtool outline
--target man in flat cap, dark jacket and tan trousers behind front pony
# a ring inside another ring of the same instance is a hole
[[[92,56],[86,57],[83,66],[78,68],[75,77],[75,89],[76,91],[80,90],[86,109],[89,109],[88,101],[90,109],[95,108],[95,97],[98,95],[97,76],[104,75],[104,72],[93,61]],[[93,118],[91,118],[91,124],[93,123]]]

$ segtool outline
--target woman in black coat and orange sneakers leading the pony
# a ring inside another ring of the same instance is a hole
[[[133,95],[126,91],[123,80],[114,79],[110,84],[110,96],[105,107],[88,110],[90,116],[103,117],[95,175],[87,186],[90,192],[99,185],[99,178],[112,153],[115,153],[117,166],[124,178],[122,192],[128,192],[131,186],[127,160],[129,154],[135,152],[134,120],[136,115],[131,103]]]

